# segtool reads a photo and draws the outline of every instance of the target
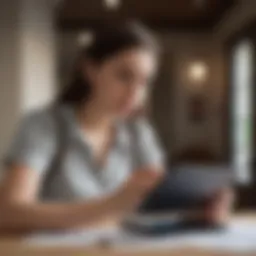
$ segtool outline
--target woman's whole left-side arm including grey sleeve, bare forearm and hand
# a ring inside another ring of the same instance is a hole
[[[148,171],[133,172],[113,195],[77,203],[39,202],[45,170],[56,151],[54,124],[48,112],[24,119],[7,158],[11,166],[0,191],[0,229],[67,229],[119,219],[133,210],[159,179],[148,167]]]

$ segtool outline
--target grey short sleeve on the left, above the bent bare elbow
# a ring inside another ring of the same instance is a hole
[[[55,150],[55,129],[48,111],[29,114],[21,121],[6,164],[22,164],[40,173],[49,167]]]

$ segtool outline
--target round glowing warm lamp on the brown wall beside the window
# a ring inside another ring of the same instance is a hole
[[[203,62],[194,62],[189,66],[188,76],[193,83],[203,83],[208,75],[208,67]]]

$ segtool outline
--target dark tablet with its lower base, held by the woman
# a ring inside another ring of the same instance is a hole
[[[132,233],[149,236],[221,231],[224,226],[191,216],[200,211],[203,202],[215,192],[232,186],[233,177],[232,170],[228,167],[177,167],[145,199],[138,212],[123,223],[123,228]]]

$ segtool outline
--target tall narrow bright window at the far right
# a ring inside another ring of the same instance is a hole
[[[253,50],[249,40],[242,41],[234,48],[232,60],[232,162],[240,183],[252,178]]]

